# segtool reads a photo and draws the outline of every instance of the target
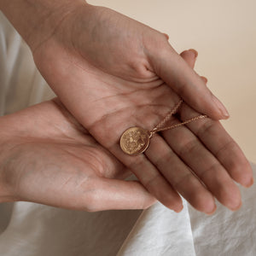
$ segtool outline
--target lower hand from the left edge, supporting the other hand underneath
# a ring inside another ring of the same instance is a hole
[[[59,102],[0,118],[0,201],[101,211],[155,201]]]

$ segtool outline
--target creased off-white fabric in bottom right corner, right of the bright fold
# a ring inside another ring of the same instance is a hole
[[[256,165],[252,164],[256,179]],[[256,255],[256,186],[241,190],[241,209],[231,212],[220,203],[212,216],[189,206],[191,228],[197,256]],[[209,254],[211,252],[211,254]]]

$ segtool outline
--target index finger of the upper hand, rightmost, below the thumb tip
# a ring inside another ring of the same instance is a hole
[[[183,105],[181,119],[189,119],[196,114],[192,108]],[[241,148],[218,121],[202,119],[200,122],[192,122],[187,126],[215,155],[229,172],[230,177],[245,187],[250,187],[253,184],[253,171],[249,162]]]

